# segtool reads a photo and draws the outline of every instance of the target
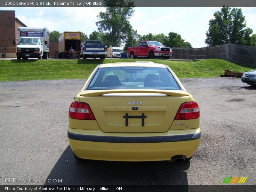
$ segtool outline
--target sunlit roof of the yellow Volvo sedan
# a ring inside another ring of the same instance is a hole
[[[156,68],[166,68],[166,66],[164,64],[147,62],[147,61],[104,63],[104,64],[101,64],[99,66],[99,68],[107,68],[107,67],[156,67]]]

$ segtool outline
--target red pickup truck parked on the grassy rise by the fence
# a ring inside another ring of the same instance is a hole
[[[162,57],[169,59],[172,56],[172,49],[165,47],[157,41],[141,41],[138,47],[128,47],[128,55],[131,59],[136,57]]]

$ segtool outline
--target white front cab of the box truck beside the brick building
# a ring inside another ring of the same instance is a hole
[[[21,37],[17,45],[17,59],[28,59],[43,57],[43,43],[40,37]]]

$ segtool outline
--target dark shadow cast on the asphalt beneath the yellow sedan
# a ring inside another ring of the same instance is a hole
[[[77,162],[70,146],[50,172],[48,179],[61,183],[45,185],[188,185],[189,162],[112,162],[85,160]]]

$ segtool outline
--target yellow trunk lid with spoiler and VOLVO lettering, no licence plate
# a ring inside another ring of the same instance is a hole
[[[167,132],[186,91],[99,90],[80,92],[103,132]]]

